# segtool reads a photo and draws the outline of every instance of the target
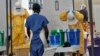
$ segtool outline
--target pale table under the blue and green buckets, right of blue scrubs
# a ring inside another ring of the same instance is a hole
[[[79,46],[71,46],[71,47],[49,47],[45,48],[45,52],[43,56],[53,56],[54,53],[74,53],[79,50]]]

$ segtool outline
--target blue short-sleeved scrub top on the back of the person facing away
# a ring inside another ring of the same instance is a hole
[[[30,17],[28,17],[27,22],[30,25],[30,30],[32,30],[33,36],[40,34],[40,31],[43,29],[45,24],[48,23],[45,16],[39,15],[37,13],[34,13]]]

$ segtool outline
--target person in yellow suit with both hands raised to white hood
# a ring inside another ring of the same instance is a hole
[[[80,29],[80,54],[84,54],[84,30],[82,26],[83,18],[84,16],[78,11],[64,11],[60,14],[60,19],[62,21],[67,21],[70,29]]]

